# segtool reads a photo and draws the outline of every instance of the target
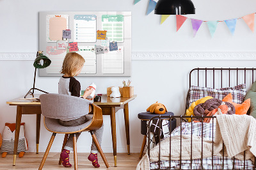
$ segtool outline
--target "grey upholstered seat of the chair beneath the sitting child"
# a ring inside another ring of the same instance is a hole
[[[92,115],[87,115],[87,116],[92,116]],[[76,132],[77,130],[86,128],[91,122],[92,120],[87,121],[86,123],[79,126],[65,127],[60,125],[59,120],[45,117],[45,127],[47,127],[52,132],[58,132],[58,133]]]

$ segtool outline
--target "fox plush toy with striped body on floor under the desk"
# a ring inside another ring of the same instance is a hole
[[[19,157],[23,157],[24,153],[28,150],[28,143],[24,132],[25,123],[20,123],[20,135],[18,142],[17,153]],[[7,153],[13,154],[15,140],[15,123],[5,123],[3,132],[3,141],[1,146],[2,158],[5,158]]]

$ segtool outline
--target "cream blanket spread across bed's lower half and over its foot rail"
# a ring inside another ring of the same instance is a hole
[[[191,147],[192,158],[201,158],[202,138],[191,135],[182,135],[182,160],[189,160]],[[214,155],[221,156],[223,141],[225,144],[225,156],[243,160],[243,151],[246,151],[246,159],[252,159],[256,155],[256,120],[248,115],[217,115],[216,132],[214,138]],[[204,158],[211,157],[212,141],[203,139]],[[172,160],[180,158],[180,136],[172,137]],[[161,160],[169,160],[170,138],[161,142]],[[157,161],[159,157],[159,145],[150,150],[150,160],[146,154],[141,158],[137,170],[150,169],[150,161]]]

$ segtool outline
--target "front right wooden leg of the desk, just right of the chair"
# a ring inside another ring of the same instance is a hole
[[[116,111],[115,107],[111,107],[111,132],[112,132],[112,143],[113,143],[113,155],[114,155],[114,162],[116,167]]]

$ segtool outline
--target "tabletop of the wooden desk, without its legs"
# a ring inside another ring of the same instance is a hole
[[[25,99],[24,96],[14,98],[13,100],[9,100],[6,104],[9,105],[41,105],[40,101],[36,98],[39,98],[40,95],[35,94],[34,97],[32,95],[28,95]],[[111,98],[107,97],[107,95],[102,95],[101,102],[93,102],[95,105],[124,105],[136,98],[137,95],[133,95],[132,97],[119,97],[119,98]]]

